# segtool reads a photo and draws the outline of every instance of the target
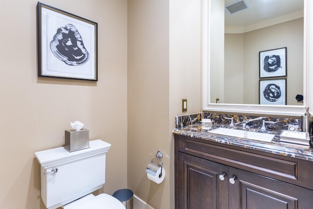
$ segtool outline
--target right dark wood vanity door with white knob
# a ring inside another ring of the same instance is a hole
[[[313,191],[229,167],[229,209],[310,209]]]

